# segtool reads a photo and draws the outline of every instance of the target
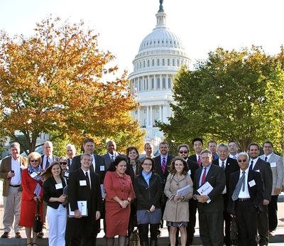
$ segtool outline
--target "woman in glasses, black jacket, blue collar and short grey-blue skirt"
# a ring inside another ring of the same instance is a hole
[[[146,157],[141,164],[141,173],[134,180],[137,199],[137,224],[142,246],[148,246],[148,228],[150,224],[151,246],[157,245],[157,232],[162,211],[160,196],[162,184],[160,176],[155,173],[153,159]]]

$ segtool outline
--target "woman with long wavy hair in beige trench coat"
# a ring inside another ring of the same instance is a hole
[[[165,204],[163,220],[167,221],[170,228],[170,246],[175,246],[175,232],[180,229],[181,245],[185,246],[187,241],[187,222],[189,220],[188,200],[192,198],[192,179],[187,173],[188,166],[185,159],[175,157],[170,166],[170,174],[165,183],[165,196],[168,201]],[[177,191],[185,186],[190,186],[189,192],[183,196],[177,195]]]

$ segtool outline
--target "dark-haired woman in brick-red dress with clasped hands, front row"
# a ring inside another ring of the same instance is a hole
[[[119,246],[126,244],[130,203],[134,198],[131,178],[125,173],[126,161],[124,157],[116,157],[104,178],[104,188],[107,193],[105,198],[107,246],[114,245],[116,235],[119,235]]]

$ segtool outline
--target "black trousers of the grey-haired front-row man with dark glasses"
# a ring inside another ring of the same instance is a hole
[[[236,200],[236,225],[241,246],[256,246],[256,208],[251,200]]]

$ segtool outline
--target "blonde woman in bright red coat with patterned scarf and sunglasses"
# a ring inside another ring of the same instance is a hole
[[[40,217],[42,217],[42,198],[43,198],[43,181],[40,176],[42,159],[40,154],[32,152],[28,155],[28,169],[22,171],[22,199],[21,199],[21,226],[25,227],[27,245],[37,246],[37,233],[33,232],[33,244],[31,243],[31,229],[33,228],[33,221],[35,219],[36,202],[40,200]]]

